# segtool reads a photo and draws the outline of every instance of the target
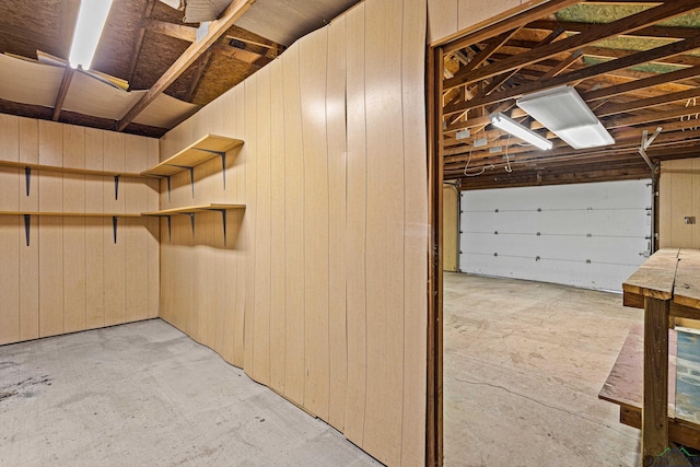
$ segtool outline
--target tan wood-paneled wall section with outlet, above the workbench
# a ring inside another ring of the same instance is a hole
[[[686,217],[698,223],[686,224]],[[700,248],[700,159],[661,163],[658,246]]]

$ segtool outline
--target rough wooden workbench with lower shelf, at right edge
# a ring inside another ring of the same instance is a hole
[[[668,330],[674,317],[700,319],[700,250],[660,249],[622,291],[626,306],[644,308],[644,327],[630,331],[599,397],[620,406],[622,423],[641,428],[643,459],[665,452],[669,439],[700,447],[700,427],[674,417],[676,346]]]

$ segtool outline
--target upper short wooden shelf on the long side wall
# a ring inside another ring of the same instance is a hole
[[[141,175],[153,177],[175,175],[178,172],[190,170],[210,159],[223,155],[226,151],[231,151],[241,144],[243,144],[242,140],[207,135],[172,157],[166,159],[148,171],[141,172]]]

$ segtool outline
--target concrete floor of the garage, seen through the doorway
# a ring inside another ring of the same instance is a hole
[[[640,432],[597,394],[641,310],[564,285],[444,282],[445,465],[640,465]]]

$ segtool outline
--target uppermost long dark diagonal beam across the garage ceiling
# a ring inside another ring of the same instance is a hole
[[[698,3],[697,0],[675,0],[673,2],[667,2],[611,23],[596,25],[596,27],[591,27],[575,36],[567,37],[564,39],[530,49],[523,54],[513,56],[508,60],[497,61],[487,67],[471,70],[460,79],[446,80],[443,83],[443,89],[446,91],[454,86],[472,83],[510,70],[526,67],[528,65],[536,63],[537,61],[556,57],[559,54],[572,51],[578,48],[598,43],[608,37],[634,32],[651,24],[658,23],[660,21],[689,13],[695,10],[700,10],[700,3]]]

